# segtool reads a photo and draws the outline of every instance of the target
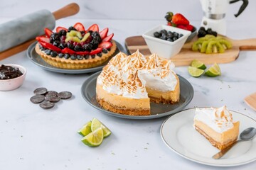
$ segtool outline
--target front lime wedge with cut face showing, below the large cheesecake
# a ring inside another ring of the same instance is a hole
[[[82,137],[82,142],[89,146],[89,147],[97,147],[99,146],[103,141],[103,130],[102,128],[97,128],[97,130],[94,130],[90,132],[85,137]]]

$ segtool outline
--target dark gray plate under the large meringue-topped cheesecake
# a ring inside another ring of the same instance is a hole
[[[191,102],[193,98],[193,87],[191,84],[184,79],[183,77],[178,75],[178,78],[180,80],[180,86],[181,86],[181,100],[176,104],[162,104],[162,103],[150,103],[151,107],[151,115],[121,115],[118,113],[113,113],[111,111],[106,111],[105,109],[101,108],[99,103],[96,101],[96,80],[100,72],[97,72],[95,74],[92,74],[88,79],[85,80],[85,82],[82,84],[81,87],[81,93],[82,97],[85,99],[87,103],[90,104],[90,106],[97,108],[98,110],[102,111],[103,113],[106,113],[108,115],[113,115],[119,118],[127,118],[127,119],[153,119],[153,118],[161,118],[166,115],[171,115],[174,113],[177,113],[179,111],[182,111],[183,108],[185,108],[188,103]]]

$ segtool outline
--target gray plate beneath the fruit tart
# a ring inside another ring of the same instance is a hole
[[[124,47],[122,47],[122,45],[120,45],[119,42],[117,42],[117,41],[115,41],[115,42],[117,44],[117,50],[114,52],[114,54],[112,56],[117,55],[118,52],[124,52]],[[26,52],[27,56],[31,60],[31,62],[33,62],[34,64],[38,65],[39,67],[42,67],[43,69],[46,69],[50,72],[58,72],[58,73],[65,73],[65,74],[83,74],[83,73],[97,72],[97,71],[102,70],[102,68],[112,58],[112,57],[110,57],[109,60],[107,60],[100,66],[90,68],[90,69],[60,69],[57,67],[53,67],[50,64],[46,63],[45,61],[43,61],[43,59],[35,51],[36,43],[37,42],[33,42],[33,44],[31,44],[28,47],[28,50]]]

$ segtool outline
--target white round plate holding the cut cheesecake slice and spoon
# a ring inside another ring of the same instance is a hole
[[[161,138],[171,150],[193,162],[211,166],[238,166],[256,160],[256,137],[238,143],[221,159],[213,159],[213,154],[219,150],[193,128],[195,110],[191,108],[171,115],[161,125]],[[240,121],[240,132],[246,128],[256,128],[256,121],[252,118],[235,111],[231,113],[234,121]]]

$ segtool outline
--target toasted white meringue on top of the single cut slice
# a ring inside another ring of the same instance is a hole
[[[226,106],[221,108],[196,108],[194,120],[206,123],[216,132],[225,132],[233,128],[233,117]]]

